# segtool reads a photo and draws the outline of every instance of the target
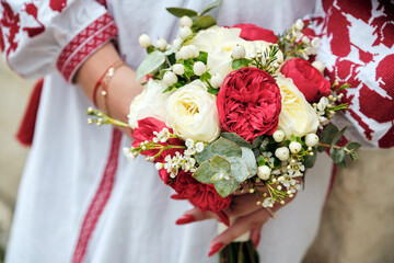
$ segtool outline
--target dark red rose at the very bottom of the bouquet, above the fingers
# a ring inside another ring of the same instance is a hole
[[[229,207],[231,203],[231,195],[225,198],[221,197],[213,185],[200,183],[192,176],[192,173],[183,170],[170,185],[178,194],[177,198],[188,199],[202,211],[218,213]]]

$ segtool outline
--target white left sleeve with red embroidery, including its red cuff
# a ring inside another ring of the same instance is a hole
[[[0,0],[0,47],[25,78],[56,69],[71,81],[79,66],[117,34],[103,1]]]

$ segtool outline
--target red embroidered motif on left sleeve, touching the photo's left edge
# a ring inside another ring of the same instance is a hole
[[[5,32],[1,32],[4,35],[4,37],[7,37],[8,41],[8,48],[5,50],[5,57],[8,57],[10,55],[11,52],[14,52],[18,47],[18,41],[15,41],[15,36],[16,34],[20,32],[20,15],[19,13],[14,13],[10,7],[9,3],[7,3],[4,0],[0,1],[2,8],[3,8],[3,13],[2,13],[2,18],[0,20],[0,26],[2,26],[3,28],[8,27],[9,34],[7,34]],[[4,39],[1,41],[2,44],[2,50],[4,50],[5,48],[5,44],[4,44]]]

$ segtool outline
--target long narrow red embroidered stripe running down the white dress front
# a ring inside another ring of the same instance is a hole
[[[78,243],[72,256],[72,263],[81,263],[83,261],[94,228],[111,196],[117,170],[120,140],[121,133],[118,129],[113,129],[111,152],[104,170],[103,179],[83,219]]]

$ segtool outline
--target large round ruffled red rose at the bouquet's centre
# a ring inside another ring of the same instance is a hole
[[[280,90],[266,71],[242,68],[225,77],[217,107],[222,129],[252,142],[257,136],[274,134],[278,127]]]

